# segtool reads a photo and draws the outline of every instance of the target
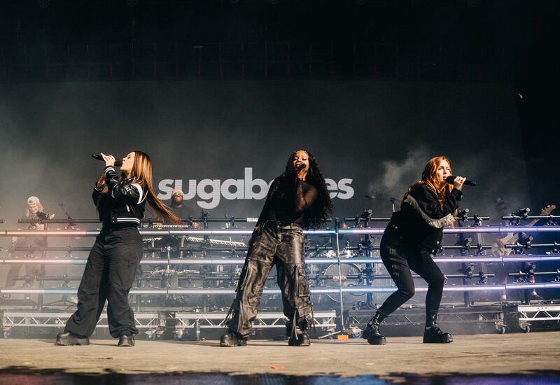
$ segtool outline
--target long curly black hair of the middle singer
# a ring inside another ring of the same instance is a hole
[[[279,193],[281,194],[281,191],[293,191],[295,188],[297,170],[293,167],[293,159],[297,151],[305,151],[309,155],[309,171],[307,172],[306,181],[317,189],[315,201],[311,204],[311,208],[303,214],[303,225],[306,228],[319,228],[332,212],[332,201],[330,200],[321,168],[309,151],[296,150],[290,155],[286,163],[286,169],[280,176]]]

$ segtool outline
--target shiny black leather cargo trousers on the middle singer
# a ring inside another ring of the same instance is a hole
[[[304,235],[300,225],[266,221],[255,228],[232,304],[227,325],[248,337],[258,313],[262,289],[276,265],[282,292],[283,313],[288,318],[286,335],[301,334],[311,325],[311,297],[305,277]]]

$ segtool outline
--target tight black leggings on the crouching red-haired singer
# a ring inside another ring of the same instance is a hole
[[[414,279],[410,270],[416,272],[428,283],[426,294],[426,315],[437,314],[443,294],[444,276],[430,257],[428,251],[403,244],[398,236],[381,239],[381,260],[398,290],[385,300],[377,312],[388,316],[414,295]]]

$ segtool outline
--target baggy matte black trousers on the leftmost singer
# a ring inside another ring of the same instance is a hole
[[[123,332],[138,334],[128,292],[141,258],[142,237],[137,228],[102,230],[87,257],[78,288],[78,310],[64,330],[90,337],[107,301],[111,335],[117,338]]]

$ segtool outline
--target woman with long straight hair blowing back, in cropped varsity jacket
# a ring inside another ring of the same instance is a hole
[[[163,218],[181,224],[179,218],[157,197],[152,184],[152,162],[141,151],[123,158],[115,172],[113,155],[102,154],[105,171],[95,183],[92,199],[102,221],[102,230],[87,258],[78,288],[78,309],[57,335],[58,345],[87,345],[99,321],[105,302],[111,336],[118,346],[134,346],[138,329],[128,293],[142,258],[142,237],[138,231],[146,202]],[[120,163],[120,162],[119,162]]]

